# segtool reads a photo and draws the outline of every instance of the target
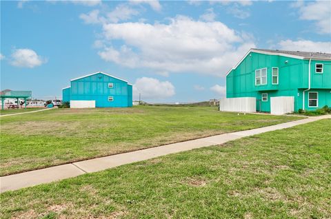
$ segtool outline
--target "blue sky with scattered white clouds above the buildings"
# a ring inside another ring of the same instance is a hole
[[[208,101],[250,48],[331,53],[331,1],[1,1],[1,90],[105,72],[134,99]]]

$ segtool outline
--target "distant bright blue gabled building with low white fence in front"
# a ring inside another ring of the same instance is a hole
[[[70,80],[62,90],[72,108],[132,107],[132,85],[110,74],[96,72]]]

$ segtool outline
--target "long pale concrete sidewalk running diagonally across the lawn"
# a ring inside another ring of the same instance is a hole
[[[65,178],[79,176],[81,174],[101,171],[103,169],[117,167],[128,163],[134,163],[141,160],[148,160],[150,158],[155,158],[158,156],[188,151],[190,149],[195,149],[199,147],[220,145],[230,140],[243,138],[245,136],[252,136],[255,134],[261,134],[264,132],[270,132],[278,129],[285,129],[296,125],[318,121],[323,118],[331,118],[331,115],[304,118],[299,121],[281,123],[278,125],[272,125],[268,127],[250,129],[241,132],[232,132],[229,134],[219,134],[217,136],[199,138],[197,140],[188,140],[181,143],[163,145],[160,147],[152,147],[135,152],[128,152],[128,153],[117,154],[112,156],[105,156],[102,158],[83,160],[76,163],[59,165],[55,167],[48,167],[45,169],[38,169],[34,171],[27,171],[21,174],[13,174],[10,176],[2,176],[0,177],[0,183],[1,183],[0,191],[3,192],[9,190],[16,190],[16,189],[21,189],[23,187],[39,185],[42,183],[50,183]]]

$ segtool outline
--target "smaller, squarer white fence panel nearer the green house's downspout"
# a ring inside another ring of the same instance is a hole
[[[283,115],[294,112],[294,96],[273,96],[270,98],[270,114]]]

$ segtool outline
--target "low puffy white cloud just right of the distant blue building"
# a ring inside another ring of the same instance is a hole
[[[141,94],[143,99],[159,99],[174,96],[174,85],[169,81],[159,81],[153,78],[142,77],[133,85],[133,95],[137,98]]]

